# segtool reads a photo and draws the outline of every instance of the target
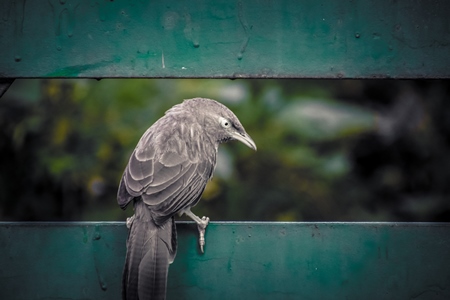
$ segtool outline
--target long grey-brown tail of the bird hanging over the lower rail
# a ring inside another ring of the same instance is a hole
[[[124,300],[166,297],[168,268],[175,259],[177,247],[175,221],[172,217],[158,226],[151,217],[146,217],[149,215],[145,204],[140,199],[136,201],[122,278]]]

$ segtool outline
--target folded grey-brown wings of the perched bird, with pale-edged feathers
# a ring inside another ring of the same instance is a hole
[[[118,194],[122,208],[142,196],[158,223],[198,201],[215,163],[215,157],[204,155],[198,147],[190,148],[176,132],[159,137],[163,138],[164,143],[157,143],[152,131],[144,134],[130,157]],[[202,147],[207,150],[208,145]]]

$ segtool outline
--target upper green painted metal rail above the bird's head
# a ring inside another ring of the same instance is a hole
[[[450,78],[446,0],[3,0],[0,78]]]

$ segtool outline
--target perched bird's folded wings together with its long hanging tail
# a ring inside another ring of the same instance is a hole
[[[173,215],[198,201],[213,171],[214,160],[190,148],[179,134],[164,134],[144,134],[119,188],[122,207],[140,197],[127,242],[124,299],[164,298],[168,264],[177,248]]]

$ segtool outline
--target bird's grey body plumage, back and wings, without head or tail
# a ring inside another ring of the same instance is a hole
[[[120,184],[119,205],[124,208],[141,196],[159,224],[195,205],[212,176],[217,152],[210,140],[204,140],[202,131],[195,115],[169,110],[144,133],[133,151]],[[179,209],[171,210],[175,207]]]

